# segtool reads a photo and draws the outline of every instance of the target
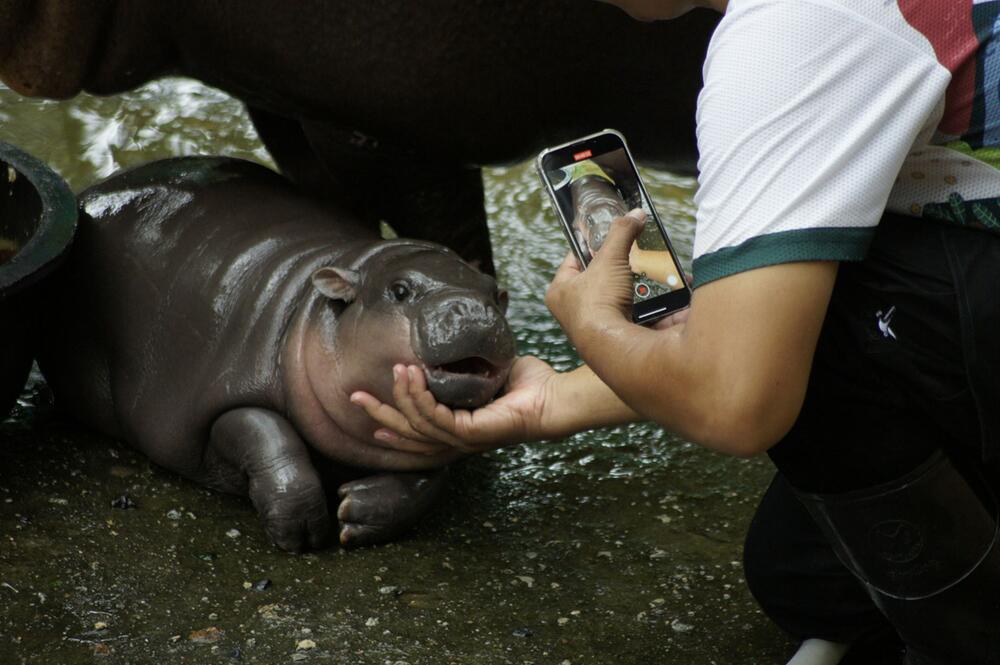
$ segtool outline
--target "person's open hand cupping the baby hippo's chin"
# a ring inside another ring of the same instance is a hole
[[[366,392],[351,395],[351,402],[382,425],[375,432],[382,445],[414,450],[418,444],[444,443],[472,453],[547,438],[544,421],[557,373],[534,356],[517,358],[504,394],[474,411],[438,403],[415,365],[397,365],[393,376],[395,407]]]

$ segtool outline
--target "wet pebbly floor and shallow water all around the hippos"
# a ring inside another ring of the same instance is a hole
[[[270,163],[238,103],[181,79],[63,103],[0,89],[0,128],[74,190],[175,155]],[[687,267],[694,182],[644,176]],[[572,367],[542,302],[566,245],[537,179],[522,165],[489,170],[486,185],[519,349]],[[403,541],[292,556],[268,544],[249,502],[59,420],[33,375],[0,424],[0,662],[787,658],[791,646],[756,609],[740,564],[766,461],[635,425],[497,451],[455,471],[445,500]],[[111,506],[123,493],[134,509]],[[257,590],[262,580],[270,585]]]

